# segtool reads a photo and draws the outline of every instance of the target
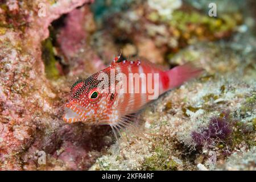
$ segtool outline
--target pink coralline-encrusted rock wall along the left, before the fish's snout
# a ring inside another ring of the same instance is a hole
[[[40,51],[41,42],[49,36],[50,23],[89,2],[93,1],[6,1],[7,9],[1,9],[0,170],[86,169],[105,146],[101,140],[92,143],[90,133],[96,128],[66,126],[62,121],[61,106],[67,100],[69,85],[51,85]],[[46,16],[38,15],[39,3],[46,6]],[[10,15],[14,18],[9,19]],[[105,127],[97,130],[95,139],[108,133]],[[90,159],[76,159],[70,164],[70,158],[89,156],[91,150]],[[47,164],[38,163],[39,151],[46,153]]]

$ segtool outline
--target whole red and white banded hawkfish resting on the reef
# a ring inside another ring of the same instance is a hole
[[[73,84],[63,119],[68,123],[110,125],[115,136],[122,129],[137,131],[127,115],[137,113],[148,102],[201,72],[191,64],[164,71],[149,61],[115,57],[109,67]]]

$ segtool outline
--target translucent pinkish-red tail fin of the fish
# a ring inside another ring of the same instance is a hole
[[[169,71],[165,72],[169,81],[168,89],[182,85],[185,81],[199,76],[203,71],[204,69],[196,68],[191,63],[186,63],[170,69]]]

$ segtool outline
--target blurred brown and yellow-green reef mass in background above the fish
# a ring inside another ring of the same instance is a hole
[[[181,1],[148,0],[136,1],[131,9],[106,16],[101,24],[106,27],[104,34],[119,43],[126,57],[139,56],[164,64],[166,57],[185,46],[229,37],[241,22],[242,15],[237,11],[212,18]],[[129,48],[134,51],[126,51]]]

